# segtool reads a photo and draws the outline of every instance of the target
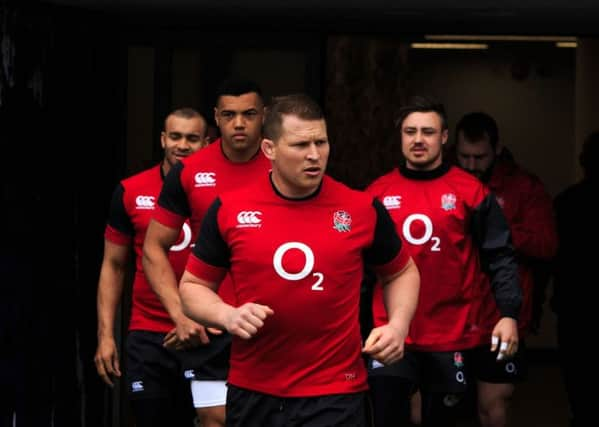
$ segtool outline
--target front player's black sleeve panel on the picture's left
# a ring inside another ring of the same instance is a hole
[[[220,207],[221,201],[217,197],[202,220],[200,234],[193,248],[193,253],[207,264],[229,268],[231,265],[231,251],[223,236],[221,236],[218,227],[218,210]]]

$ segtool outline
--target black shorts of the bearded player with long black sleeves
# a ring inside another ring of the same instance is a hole
[[[470,382],[471,355],[466,351],[406,351],[403,359],[382,366],[368,362],[368,376],[397,376],[430,392],[463,393]]]

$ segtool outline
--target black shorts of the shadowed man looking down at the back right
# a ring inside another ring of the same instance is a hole
[[[528,376],[526,345],[522,340],[516,354],[504,360],[497,360],[497,352],[489,351],[485,345],[471,350],[473,376],[477,380],[494,384],[516,384]]]

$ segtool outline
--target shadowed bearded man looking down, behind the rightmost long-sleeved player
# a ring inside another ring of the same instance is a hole
[[[526,378],[524,339],[530,333],[535,268],[557,251],[557,233],[551,196],[541,181],[513,160],[501,159],[504,149],[495,120],[484,112],[464,115],[456,126],[458,165],[476,176],[495,194],[508,221],[518,260],[522,309],[518,318],[519,351],[513,358],[496,360],[483,346],[476,351],[478,415],[483,427],[505,427],[515,384]],[[492,298],[483,304],[481,324],[491,336],[499,319]]]

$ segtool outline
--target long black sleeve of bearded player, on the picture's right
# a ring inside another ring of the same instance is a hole
[[[493,194],[476,207],[471,226],[482,267],[491,277],[491,287],[501,315],[518,319],[522,305],[518,264],[510,228]]]

